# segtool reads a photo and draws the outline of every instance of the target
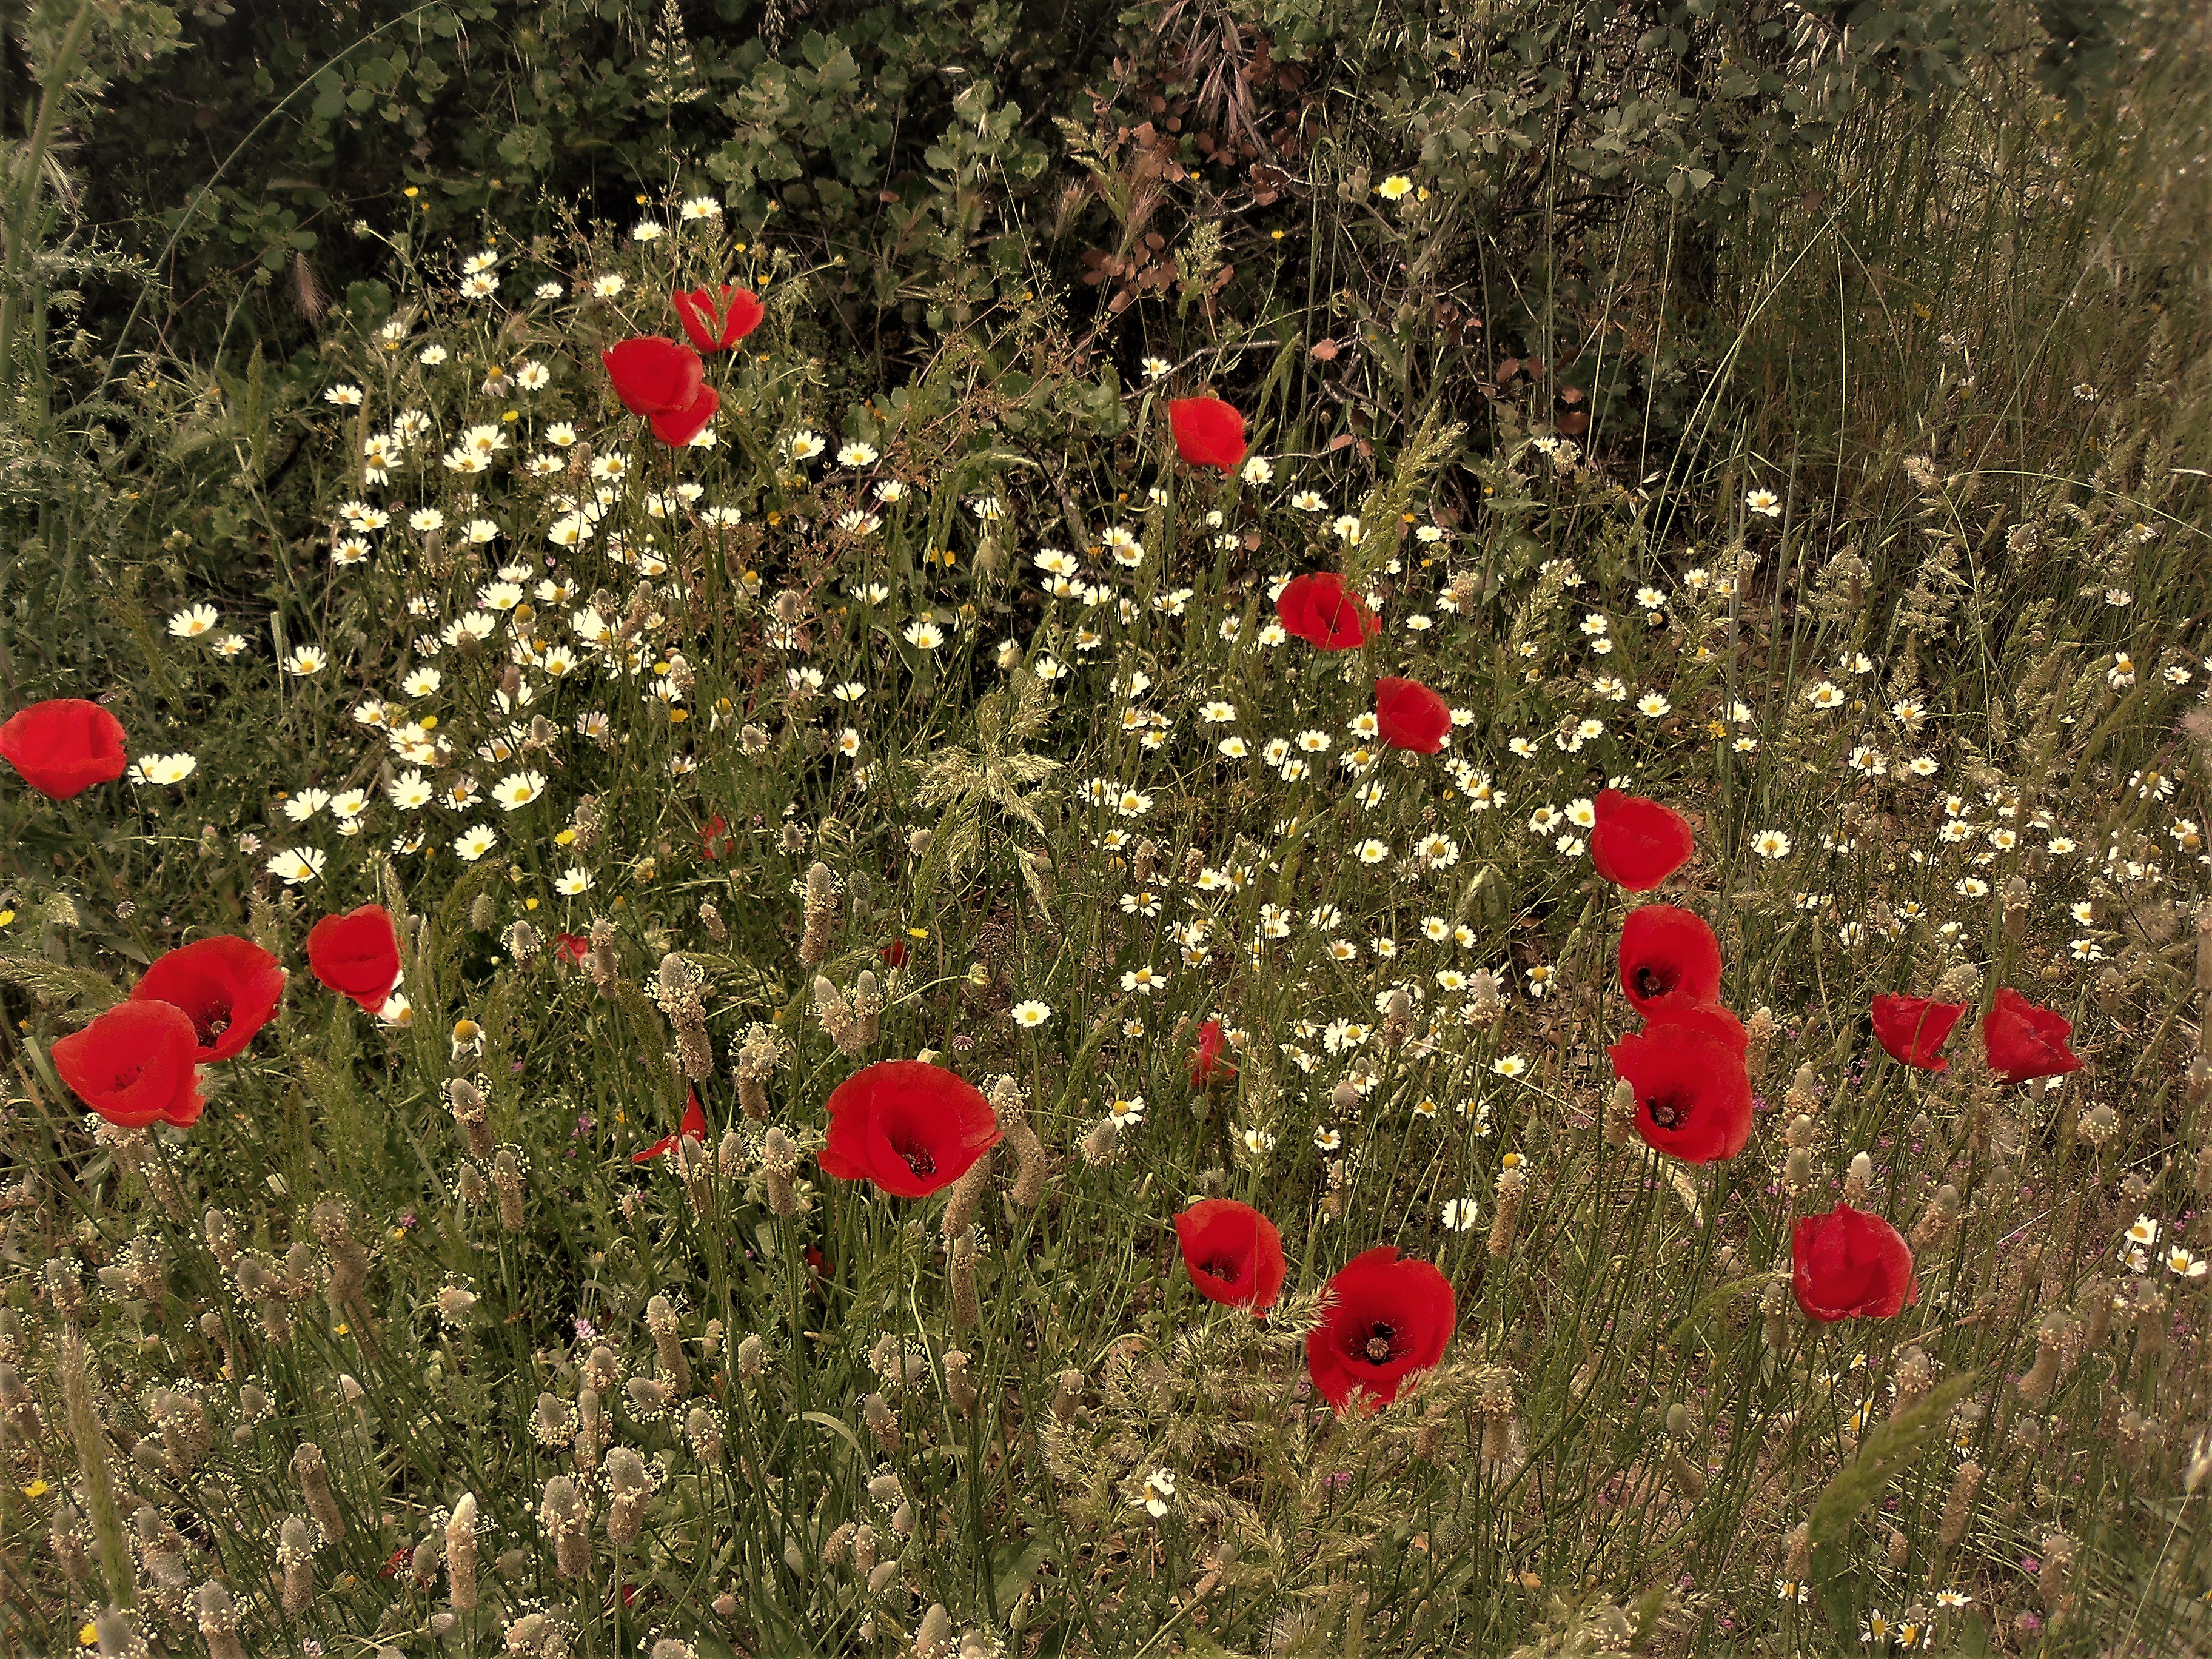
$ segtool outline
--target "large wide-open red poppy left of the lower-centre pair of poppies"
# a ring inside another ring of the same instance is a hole
[[[825,1175],[874,1181],[900,1199],[951,1186],[998,1141],[998,1113],[964,1077],[922,1060],[883,1060],[830,1093]]]

